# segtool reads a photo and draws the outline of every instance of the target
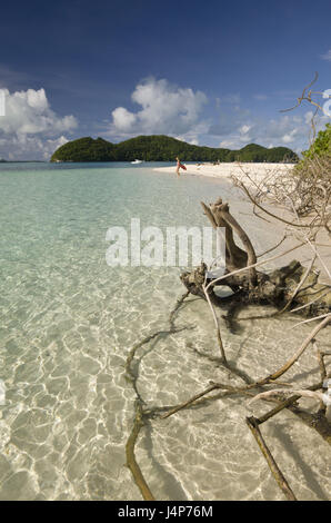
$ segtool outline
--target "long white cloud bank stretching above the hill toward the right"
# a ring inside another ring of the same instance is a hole
[[[268,98],[255,93],[258,100]],[[203,115],[207,96],[190,88],[173,86],[167,80],[149,78],[133,90],[131,100],[139,108],[118,107],[112,111],[108,135],[119,139],[137,135],[164,134],[189,144],[219,144],[239,149],[255,142],[264,147],[287,146],[295,151],[309,145],[311,111],[275,118],[258,117],[240,105],[240,95],[223,95],[213,99],[213,117]],[[323,117],[318,130],[323,127]]]

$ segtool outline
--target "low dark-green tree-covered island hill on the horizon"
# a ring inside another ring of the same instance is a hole
[[[68,141],[51,157],[51,161],[298,161],[298,156],[287,147],[267,149],[250,144],[240,150],[201,147],[163,135],[138,136],[120,144],[102,138],[79,138]]]

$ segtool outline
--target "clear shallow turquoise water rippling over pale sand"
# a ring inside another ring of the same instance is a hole
[[[137,341],[168,328],[184,289],[175,267],[109,267],[107,229],[127,227],[131,217],[142,226],[205,226],[200,200],[218,196],[247,219],[227,182],[177,179],[151,167],[0,165],[1,500],[141,499],[124,466],[134,413],[126,358]],[[260,225],[247,227],[264,250]],[[287,330],[295,320],[245,322],[238,335],[223,328],[229,358],[264,376],[309,332]],[[218,349],[205,304],[190,298],[177,325],[187,328],[137,355],[138,388],[149,406],[177,404],[211,379],[229,379],[212,359]],[[321,347],[328,336],[321,333]],[[317,381],[311,354],[291,376]],[[151,422],[137,457],[156,497],[282,499],[244,423],[260,412],[265,405],[232,397]],[[325,500],[327,443],[289,413],[263,425],[263,434],[298,497]]]

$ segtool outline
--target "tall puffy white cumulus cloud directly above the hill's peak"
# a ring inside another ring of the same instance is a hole
[[[168,80],[154,78],[140,82],[131,99],[141,109],[136,112],[124,107],[114,109],[110,134],[185,135],[199,122],[208,101],[201,91],[180,88]]]

